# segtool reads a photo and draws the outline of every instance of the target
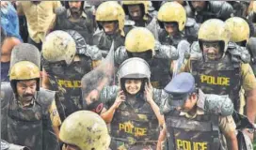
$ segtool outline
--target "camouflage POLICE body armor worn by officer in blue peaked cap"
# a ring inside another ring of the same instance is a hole
[[[168,150],[207,149],[224,150],[220,143],[219,116],[233,113],[232,100],[228,96],[203,94],[199,90],[197,107],[204,113],[195,118],[186,118],[181,112],[170,109],[167,102],[161,107],[168,129]]]

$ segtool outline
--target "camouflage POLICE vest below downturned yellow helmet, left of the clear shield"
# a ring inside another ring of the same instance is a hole
[[[64,117],[82,109],[81,79],[92,70],[92,60],[85,55],[79,57],[80,61],[72,62],[68,67],[53,65],[42,59],[52,90],[58,91],[60,102],[64,105]]]

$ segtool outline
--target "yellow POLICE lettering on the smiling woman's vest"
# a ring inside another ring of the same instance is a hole
[[[147,134],[147,128],[136,128],[131,122],[120,124],[120,131],[133,134],[136,137],[145,136]]]

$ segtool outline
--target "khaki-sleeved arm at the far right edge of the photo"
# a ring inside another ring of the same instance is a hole
[[[242,64],[241,67],[242,85],[247,96],[247,116],[251,123],[254,123],[256,117],[256,79],[252,68],[248,64]],[[250,135],[252,137],[252,135]]]

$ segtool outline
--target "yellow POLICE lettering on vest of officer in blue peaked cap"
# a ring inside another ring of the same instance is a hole
[[[184,140],[176,140],[176,149],[183,150],[207,150],[207,143],[196,143]]]

